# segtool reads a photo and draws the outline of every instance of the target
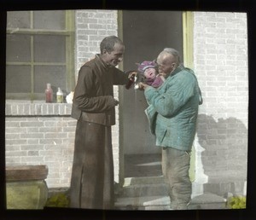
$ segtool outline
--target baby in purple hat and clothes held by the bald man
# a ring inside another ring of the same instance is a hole
[[[143,61],[138,65],[138,72],[143,74],[144,83],[148,84],[154,88],[160,87],[164,83],[165,78],[161,77],[157,71],[157,65],[154,61]]]

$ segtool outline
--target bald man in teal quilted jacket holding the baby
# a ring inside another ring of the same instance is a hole
[[[189,162],[201,91],[195,74],[180,63],[176,49],[166,48],[157,57],[164,84],[155,89],[140,84],[148,101],[145,113],[156,146],[162,148],[162,171],[172,210],[188,208],[191,197]]]

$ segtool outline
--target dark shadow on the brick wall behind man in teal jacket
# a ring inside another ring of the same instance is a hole
[[[215,119],[198,115],[198,141],[204,173],[216,179],[247,179],[247,128],[236,118]]]

